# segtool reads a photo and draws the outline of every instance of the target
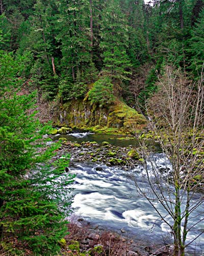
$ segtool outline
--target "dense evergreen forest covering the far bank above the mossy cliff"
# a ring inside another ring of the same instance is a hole
[[[198,79],[203,1],[1,1],[1,49],[43,100],[143,104],[166,65]],[[104,90],[105,89],[105,90]]]

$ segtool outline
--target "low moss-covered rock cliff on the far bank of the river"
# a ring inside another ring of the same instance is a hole
[[[121,101],[108,108],[100,108],[78,99],[70,100],[61,107],[56,124],[101,132],[134,133],[143,129],[145,123],[142,115]]]

